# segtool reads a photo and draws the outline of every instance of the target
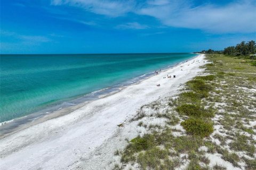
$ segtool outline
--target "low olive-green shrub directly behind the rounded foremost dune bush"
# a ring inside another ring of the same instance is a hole
[[[213,117],[214,114],[211,109],[204,109],[198,105],[185,104],[177,107],[177,112],[181,115],[195,116],[195,117]]]

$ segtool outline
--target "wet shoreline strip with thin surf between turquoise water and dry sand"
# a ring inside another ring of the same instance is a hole
[[[186,61],[194,60],[197,56],[199,56],[199,54],[189,58],[188,60],[182,61],[179,64],[175,63],[173,65],[165,66],[163,67],[163,69],[161,69],[162,70],[161,72],[164,72],[166,70],[172,69],[175,66],[186,63]],[[75,97],[73,99],[63,101],[59,104],[56,104],[56,105],[53,104],[52,106],[44,108],[41,111],[37,111],[26,116],[14,118],[9,121],[0,122],[0,139],[5,138],[7,135],[11,135],[12,133],[16,133],[20,130],[26,129],[29,126],[33,126],[35,124],[47,121],[49,119],[57,118],[59,116],[69,114],[70,112],[73,112],[76,109],[83,107],[84,105],[86,105],[87,103],[90,103],[91,101],[95,101],[101,98],[108,97],[110,95],[114,95],[117,92],[120,92],[129,86],[138,84],[141,81],[147,80],[155,75],[156,74],[154,72],[145,73],[138,77],[134,77],[131,80],[127,80],[126,82],[116,84],[113,87],[106,87],[97,91],[92,91],[89,94]],[[131,82],[131,83],[127,83],[129,81],[132,81],[133,79],[138,79],[138,80],[135,80],[134,82]],[[110,90],[110,91],[105,92],[105,90]],[[94,96],[95,93],[98,93],[98,92],[100,93],[101,91],[103,92],[102,94]],[[70,103],[71,106],[62,106],[63,103]]]

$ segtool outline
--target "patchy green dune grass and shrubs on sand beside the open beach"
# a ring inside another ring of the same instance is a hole
[[[179,96],[168,99],[167,105],[159,101],[150,105],[150,116],[165,118],[165,125],[148,124],[145,135],[130,140],[121,154],[123,165],[135,169],[256,169],[256,67],[251,61],[222,54],[206,59],[210,63],[203,67],[203,75],[188,81]],[[159,112],[163,108],[166,112]],[[142,108],[134,120],[145,116]],[[233,167],[209,166],[214,160],[206,153],[218,153]]]

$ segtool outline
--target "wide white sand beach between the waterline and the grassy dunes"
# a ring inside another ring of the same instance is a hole
[[[69,114],[6,135],[0,139],[1,169],[108,169],[115,149],[137,135],[120,136],[117,125],[128,124],[142,105],[177,94],[205,63],[198,55]]]

